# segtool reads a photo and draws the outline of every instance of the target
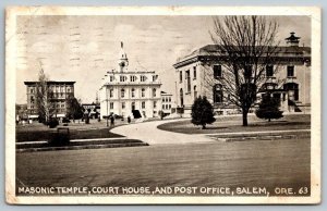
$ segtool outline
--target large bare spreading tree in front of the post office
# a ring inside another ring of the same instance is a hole
[[[242,110],[243,126],[247,126],[249,110],[267,80],[267,65],[276,64],[277,32],[277,23],[264,16],[214,17],[210,35],[223,66],[223,75],[215,79],[228,100]],[[277,70],[275,65],[274,72]]]

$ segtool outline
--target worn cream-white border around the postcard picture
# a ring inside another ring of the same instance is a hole
[[[15,197],[15,52],[17,15],[307,15],[312,20],[311,197]],[[319,203],[322,11],[316,7],[9,7],[5,11],[5,200],[20,204]]]

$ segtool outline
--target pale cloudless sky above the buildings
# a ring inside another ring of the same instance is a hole
[[[291,32],[311,46],[311,18],[268,16],[278,25],[276,40],[284,46]],[[43,69],[51,80],[74,80],[75,97],[94,102],[101,78],[117,69],[120,44],[130,71],[155,71],[161,90],[174,94],[172,64],[213,44],[213,16],[20,16],[16,26],[16,103],[26,103],[25,80]]]

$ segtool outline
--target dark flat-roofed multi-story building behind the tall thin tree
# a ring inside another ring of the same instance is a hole
[[[38,119],[38,110],[36,104],[36,90],[38,82],[24,82],[27,94],[27,116],[28,119]],[[49,101],[52,117],[62,119],[66,114],[66,99],[74,97],[75,82],[47,82],[49,90]]]

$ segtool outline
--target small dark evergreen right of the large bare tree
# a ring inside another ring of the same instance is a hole
[[[268,120],[269,122],[271,119],[282,117],[282,111],[279,110],[279,100],[271,98],[269,94],[266,95],[255,114],[257,117]]]

